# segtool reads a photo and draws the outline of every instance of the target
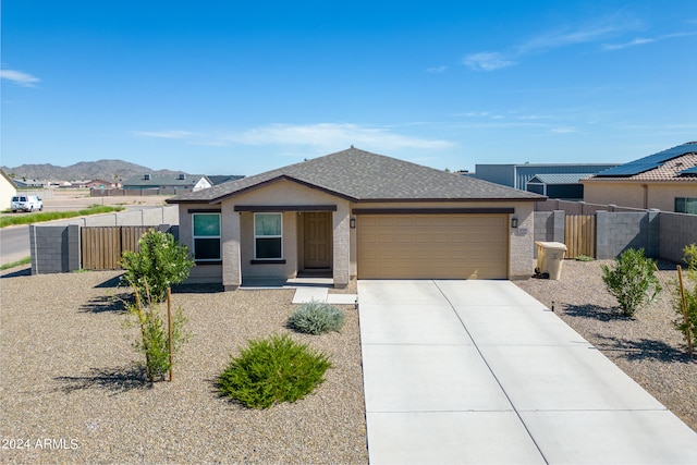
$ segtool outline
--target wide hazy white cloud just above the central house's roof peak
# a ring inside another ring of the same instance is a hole
[[[244,145],[304,145],[322,149],[350,145],[375,147],[381,150],[399,148],[439,149],[454,146],[448,140],[428,139],[396,134],[382,127],[364,127],[348,123],[308,125],[271,124],[225,137]]]

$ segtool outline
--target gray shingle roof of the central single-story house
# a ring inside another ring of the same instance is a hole
[[[352,201],[541,200],[546,197],[354,148],[254,176],[182,194],[167,201],[219,203],[278,180],[291,180]]]

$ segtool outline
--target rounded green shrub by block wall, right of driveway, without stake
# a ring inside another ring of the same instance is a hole
[[[661,292],[656,262],[644,256],[643,248],[629,248],[615,258],[613,267],[602,265],[601,268],[608,292],[617,299],[626,317],[650,305]]]

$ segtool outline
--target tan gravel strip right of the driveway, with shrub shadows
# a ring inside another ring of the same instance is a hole
[[[606,290],[601,265],[564,260],[559,281],[514,281],[554,310],[568,326],[598,347],[624,372],[697,431],[697,357],[687,354],[685,339],[673,327],[670,281],[675,265],[659,262],[663,292],[634,319],[621,316],[616,299]]]

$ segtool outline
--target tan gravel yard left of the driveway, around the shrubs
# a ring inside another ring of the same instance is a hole
[[[182,287],[173,301],[193,338],[174,381],[150,386],[112,299],[120,273],[0,279],[0,463],[368,462],[353,306],[341,333],[304,335],[285,328],[292,290]],[[286,332],[334,365],[314,394],[268,411],[217,395],[230,354]]]

